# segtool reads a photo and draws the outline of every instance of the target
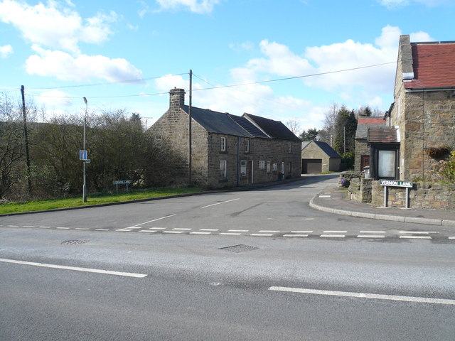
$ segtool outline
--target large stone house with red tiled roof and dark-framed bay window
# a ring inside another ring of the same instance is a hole
[[[369,129],[372,177],[430,180],[455,149],[455,42],[411,43],[400,36],[387,129]]]

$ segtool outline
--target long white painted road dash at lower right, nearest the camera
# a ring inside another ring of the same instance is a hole
[[[350,293],[344,291],[326,291],[326,290],[314,290],[304,288],[287,288],[284,286],[271,286],[270,291],[284,291],[289,293],[310,293],[314,295],[326,295],[326,296],[343,296],[343,297],[355,297],[355,298],[373,298],[378,300],[388,301],[405,301],[405,302],[416,302],[416,303],[434,303],[434,304],[446,304],[455,305],[455,300],[445,298],[427,298],[427,297],[412,297],[412,296],[395,296],[395,295],[380,295],[375,293]]]

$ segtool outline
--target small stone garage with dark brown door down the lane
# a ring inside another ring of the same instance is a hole
[[[301,144],[301,173],[314,174],[340,171],[341,156],[322,141],[304,141]]]

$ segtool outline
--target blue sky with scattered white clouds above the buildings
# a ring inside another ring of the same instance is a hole
[[[321,129],[334,102],[385,112],[401,34],[455,40],[452,0],[0,0],[0,92],[43,112],[194,107]]]

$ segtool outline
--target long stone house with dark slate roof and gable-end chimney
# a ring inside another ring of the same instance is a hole
[[[185,90],[172,89],[169,109],[149,129],[181,153],[188,183],[189,112]],[[251,185],[300,176],[301,141],[281,121],[191,107],[191,183],[205,188]]]

